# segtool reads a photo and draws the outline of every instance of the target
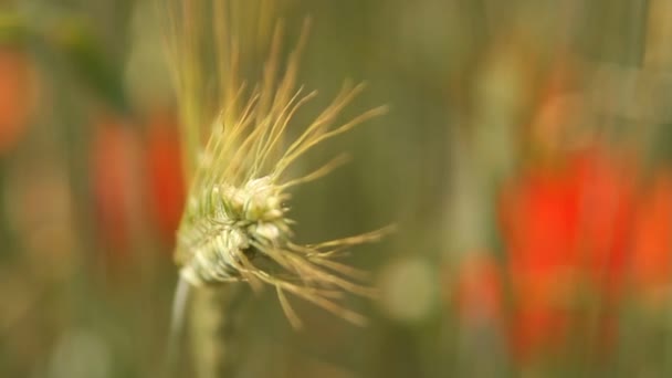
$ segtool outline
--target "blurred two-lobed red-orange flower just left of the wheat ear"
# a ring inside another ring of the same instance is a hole
[[[102,118],[91,157],[96,220],[107,252],[123,259],[153,227],[172,243],[185,201],[176,118],[153,113],[144,144],[128,122]]]

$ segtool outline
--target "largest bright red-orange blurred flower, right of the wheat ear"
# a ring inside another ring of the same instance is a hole
[[[581,294],[620,293],[633,208],[623,165],[598,149],[529,167],[500,198],[514,296],[513,343],[526,358],[567,337]]]

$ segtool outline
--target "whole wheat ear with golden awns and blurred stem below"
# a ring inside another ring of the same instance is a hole
[[[290,294],[351,323],[365,323],[360,314],[339,302],[344,292],[372,296],[375,291],[355,282],[364,272],[335,259],[350,246],[379,240],[389,228],[315,244],[295,243],[294,223],[287,217],[290,190],[327,175],[345,159],[336,157],[302,176],[294,176],[290,168],[308,150],[384,114],[386,107],[340,120],[340,112],[364,90],[364,85],[346,83],[330,104],[302,126],[297,137],[286,140],[295,114],[317,94],[296,83],[309,21],[281,64],[283,27],[269,15],[269,1],[259,2],[259,7],[234,0],[168,1],[167,46],[182,115],[183,161],[189,177],[175,253],[180,267],[178,293],[185,282],[193,287],[190,318],[196,370],[199,377],[216,377],[234,371],[240,349],[234,346],[242,322],[239,308],[249,294],[239,282],[255,291],[272,286],[295,327],[301,326],[301,318]],[[245,7],[252,7],[256,17],[239,14]],[[206,17],[209,13],[211,19]],[[259,24],[248,28],[238,25],[238,20]],[[270,28],[269,22],[275,27]],[[256,30],[252,41],[267,34],[270,45],[261,80],[253,86],[240,74],[242,65],[251,64],[240,42],[244,36],[241,32],[250,29]],[[214,49],[210,55],[208,41]],[[208,56],[217,62],[214,67],[208,65]],[[212,83],[218,88],[206,90]],[[176,304],[175,316],[181,316],[188,302],[177,297]],[[179,329],[179,324],[174,329]]]

